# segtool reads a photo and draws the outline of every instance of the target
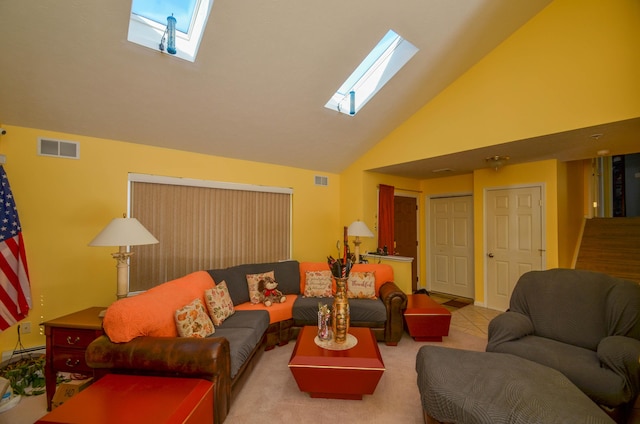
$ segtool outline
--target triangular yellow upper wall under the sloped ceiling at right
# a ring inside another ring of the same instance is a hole
[[[639,22],[637,0],[552,2],[354,166],[640,116]]]

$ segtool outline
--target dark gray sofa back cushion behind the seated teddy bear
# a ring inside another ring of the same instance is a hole
[[[261,264],[243,264],[224,269],[212,269],[207,272],[216,283],[227,282],[229,295],[234,305],[249,301],[247,274],[274,272],[278,289],[284,294],[300,293],[300,263],[295,260],[266,262]]]

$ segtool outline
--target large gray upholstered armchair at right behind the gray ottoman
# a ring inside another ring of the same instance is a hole
[[[487,351],[562,372],[616,421],[640,391],[640,285],[592,271],[531,271],[489,323]]]

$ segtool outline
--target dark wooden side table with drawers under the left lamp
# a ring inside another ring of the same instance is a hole
[[[47,389],[47,410],[56,392],[58,372],[93,376],[84,354],[89,343],[103,334],[102,318],[98,314],[104,307],[92,307],[43,323],[47,358],[44,368]]]

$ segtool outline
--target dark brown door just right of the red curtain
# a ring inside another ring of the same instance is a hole
[[[394,252],[413,258],[411,262],[411,291],[418,285],[418,200],[415,197],[395,196],[393,199],[395,239]]]

